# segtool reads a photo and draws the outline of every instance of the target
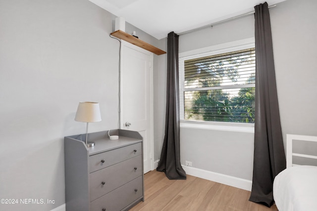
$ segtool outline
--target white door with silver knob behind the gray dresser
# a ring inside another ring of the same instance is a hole
[[[122,41],[120,128],[143,137],[144,173],[153,170],[153,53]]]

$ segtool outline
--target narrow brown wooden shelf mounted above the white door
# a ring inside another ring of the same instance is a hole
[[[112,35],[113,37],[119,38],[121,40],[124,40],[126,42],[130,42],[132,44],[135,44],[139,47],[142,47],[143,49],[149,50],[157,55],[161,55],[166,53],[165,51],[147,43],[144,42],[138,38],[133,37],[132,35],[129,35],[128,33],[122,32],[121,30],[112,32],[110,35]]]

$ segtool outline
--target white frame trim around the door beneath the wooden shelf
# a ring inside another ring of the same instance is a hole
[[[124,58],[122,58],[122,46],[126,46],[126,47],[129,47],[131,49],[134,49],[136,51],[139,51],[139,52],[142,52],[144,54],[147,54],[150,56],[150,62],[151,62],[151,66],[150,66],[150,121],[149,121],[149,124],[150,124],[150,127],[151,127],[151,133],[150,133],[150,137],[148,138],[149,140],[149,144],[151,145],[151,150],[150,150],[150,159],[151,159],[151,170],[154,170],[154,120],[153,120],[153,108],[154,108],[154,102],[153,102],[153,53],[148,51],[148,50],[145,50],[139,46],[136,46],[130,42],[126,42],[126,41],[123,41],[121,40],[121,49],[120,49],[120,74],[119,74],[119,80],[120,80],[120,98],[121,98],[121,94],[122,94],[122,90],[123,90],[123,85],[122,85],[122,72],[121,72],[121,68],[123,67],[123,60]],[[119,124],[120,124],[120,128],[123,127],[123,120],[122,120],[122,115],[121,115],[121,108],[123,107],[123,103],[122,103],[122,100],[120,99],[120,111],[119,111]]]

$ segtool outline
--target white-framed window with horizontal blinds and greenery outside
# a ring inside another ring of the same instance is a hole
[[[255,48],[180,57],[181,119],[254,123]]]

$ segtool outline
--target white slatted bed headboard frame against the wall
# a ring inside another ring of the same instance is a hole
[[[293,140],[317,142],[317,136],[286,134],[286,168],[298,166],[293,164],[293,156],[317,159],[317,156],[314,155],[293,153]]]

